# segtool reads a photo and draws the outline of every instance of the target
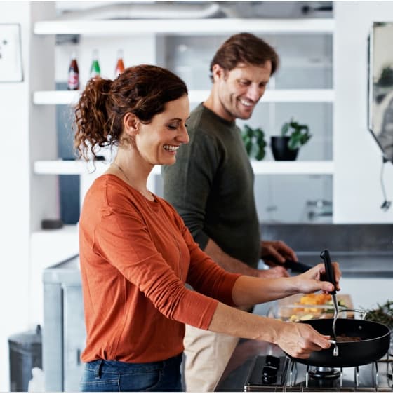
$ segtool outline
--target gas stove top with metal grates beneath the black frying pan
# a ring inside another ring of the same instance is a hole
[[[392,353],[378,362],[347,368],[312,367],[295,362],[284,353],[258,355],[248,372],[244,391],[393,392],[392,374]]]

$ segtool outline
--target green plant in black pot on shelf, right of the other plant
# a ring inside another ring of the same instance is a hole
[[[295,160],[299,148],[312,137],[308,125],[301,125],[291,118],[281,128],[281,135],[270,137],[270,147],[274,160]]]

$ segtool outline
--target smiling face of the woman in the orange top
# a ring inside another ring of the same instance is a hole
[[[140,156],[151,165],[171,165],[176,151],[187,144],[186,121],[189,117],[189,98],[184,95],[167,102],[164,112],[156,114],[148,124],[139,123],[135,146]]]

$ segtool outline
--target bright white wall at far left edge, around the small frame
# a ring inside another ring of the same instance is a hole
[[[22,24],[22,61],[27,65],[29,7],[0,3],[0,22]],[[29,274],[29,117],[27,81],[0,83],[1,134],[6,149],[1,149],[2,208],[0,276],[0,390],[8,386],[8,342],[10,334],[25,329],[28,320],[27,290]]]

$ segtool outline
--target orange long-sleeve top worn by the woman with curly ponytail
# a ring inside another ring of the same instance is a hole
[[[98,177],[86,193],[79,221],[84,362],[166,360],[183,351],[185,323],[206,330],[218,300],[234,305],[239,275],[215,264],[175,209],[154,197],[115,175]]]

